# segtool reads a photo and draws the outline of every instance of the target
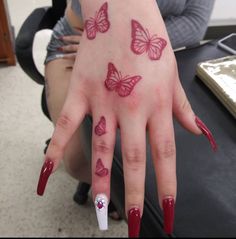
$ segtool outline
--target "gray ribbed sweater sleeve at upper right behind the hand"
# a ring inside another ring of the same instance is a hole
[[[206,32],[214,0],[188,0],[180,16],[167,16],[166,29],[173,48],[191,46]]]

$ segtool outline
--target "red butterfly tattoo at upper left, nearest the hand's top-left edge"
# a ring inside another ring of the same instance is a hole
[[[104,33],[110,28],[110,22],[108,20],[107,14],[108,4],[105,2],[98,12],[96,12],[95,17],[90,17],[85,21],[85,30],[87,33],[87,38],[92,40],[96,37],[97,32]]]

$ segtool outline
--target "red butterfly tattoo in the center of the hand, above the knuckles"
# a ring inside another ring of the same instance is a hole
[[[105,87],[110,91],[115,90],[119,96],[125,97],[131,94],[134,86],[141,79],[141,76],[122,77],[121,72],[118,72],[115,66],[109,63]]]

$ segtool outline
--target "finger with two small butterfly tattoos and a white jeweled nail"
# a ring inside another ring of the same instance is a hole
[[[115,145],[116,120],[109,113],[93,114],[92,191],[100,230],[108,229],[111,166]]]

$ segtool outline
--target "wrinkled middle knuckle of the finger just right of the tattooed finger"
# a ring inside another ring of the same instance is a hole
[[[144,164],[144,153],[138,147],[125,150],[124,157],[127,166],[135,171],[140,168],[140,165]]]

